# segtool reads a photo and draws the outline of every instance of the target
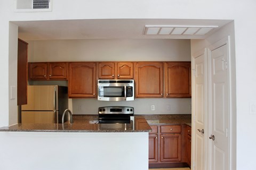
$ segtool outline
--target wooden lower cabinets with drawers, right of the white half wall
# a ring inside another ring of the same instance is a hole
[[[186,126],[155,124],[150,127],[149,168],[188,167]]]

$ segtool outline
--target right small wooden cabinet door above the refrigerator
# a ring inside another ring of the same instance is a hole
[[[67,80],[68,64],[67,63],[49,63],[49,79]]]

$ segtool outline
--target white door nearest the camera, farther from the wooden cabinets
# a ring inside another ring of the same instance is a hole
[[[211,170],[227,170],[228,145],[228,66],[227,44],[210,50],[210,167]]]

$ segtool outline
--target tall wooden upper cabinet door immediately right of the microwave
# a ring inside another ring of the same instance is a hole
[[[163,63],[136,64],[136,97],[163,97]]]

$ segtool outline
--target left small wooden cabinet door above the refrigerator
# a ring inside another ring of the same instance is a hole
[[[47,63],[29,63],[30,80],[47,80]]]

